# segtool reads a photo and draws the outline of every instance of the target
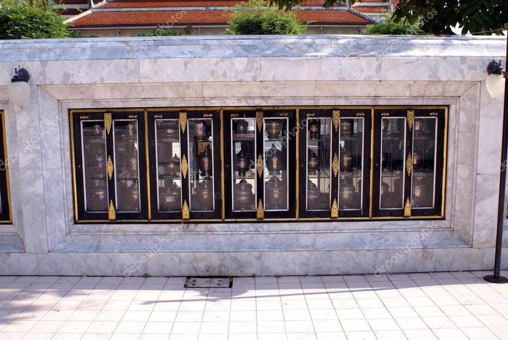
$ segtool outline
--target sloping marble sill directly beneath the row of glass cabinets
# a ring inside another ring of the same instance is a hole
[[[364,233],[167,233],[70,234],[52,253],[157,253],[175,252],[274,252],[371,249],[467,248],[454,231],[400,231]]]

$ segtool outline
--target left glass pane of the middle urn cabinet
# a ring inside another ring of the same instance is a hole
[[[231,119],[232,206],[234,212],[256,211],[256,120]]]

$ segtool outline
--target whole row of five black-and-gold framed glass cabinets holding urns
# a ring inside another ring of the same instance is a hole
[[[447,115],[446,107],[71,110],[76,221],[444,218]],[[0,223],[10,218],[7,179],[0,174]]]

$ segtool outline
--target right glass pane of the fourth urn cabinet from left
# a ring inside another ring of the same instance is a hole
[[[362,210],[364,118],[341,118],[339,130],[339,210]]]

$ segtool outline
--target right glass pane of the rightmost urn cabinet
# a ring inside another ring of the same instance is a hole
[[[437,118],[415,118],[412,150],[412,208],[434,208]]]

